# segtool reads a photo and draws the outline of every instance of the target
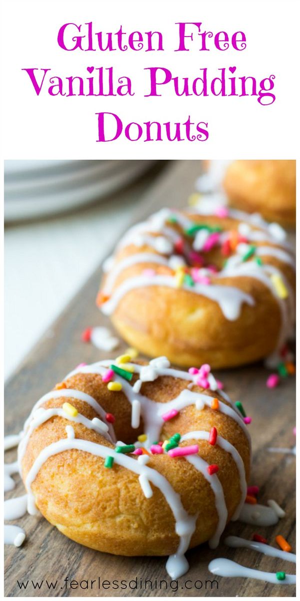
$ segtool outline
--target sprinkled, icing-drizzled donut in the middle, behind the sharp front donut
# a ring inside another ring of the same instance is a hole
[[[294,319],[286,233],[211,197],[134,225],[104,264],[101,311],[131,346],[188,367],[280,350]]]

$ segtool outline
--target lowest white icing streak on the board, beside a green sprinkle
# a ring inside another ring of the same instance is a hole
[[[235,561],[227,560],[224,557],[212,560],[211,563],[209,563],[208,569],[209,572],[212,572],[215,576],[254,578],[256,580],[271,582],[271,584],[296,584],[296,576],[293,574],[286,574],[284,580],[278,580],[276,574],[273,574],[272,572],[261,572],[260,570],[253,570],[249,567],[240,566]]]

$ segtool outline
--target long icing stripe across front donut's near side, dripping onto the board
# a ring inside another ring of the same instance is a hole
[[[140,465],[140,463],[133,459],[133,457],[129,457],[128,455],[122,453],[116,453],[115,450],[104,447],[103,445],[80,439],[70,440],[67,438],[53,442],[48,447],[43,448],[37,459],[35,459],[35,462],[31,466],[31,469],[26,477],[26,489],[28,490],[28,513],[34,514],[36,511],[31,484],[37,477],[41,467],[47,461],[47,459],[49,459],[49,457],[70,449],[86,451],[86,453],[91,453],[97,457],[105,458],[112,456],[115,463],[123,466],[124,468],[130,469],[130,471],[133,471],[136,474],[144,475],[147,480],[152,482],[154,486],[161,490],[175,517],[176,534],[178,534],[180,538],[179,548],[176,553],[177,559],[174,560],[174,555],[169,558],[166,566],[167,572],[171,578],[179,578],[182,576],[188,568],[187,560],[185,560],[184,554],[188,549],[191,535],[194,532],[196,516],[191,517],[187,514],[181,503],[180,496],[175,492],[175,490],[173,490],[169,481],[164,478],[163,475],[161,475],[155,469],[148,468],[146,465]],[[183,569],[184,572],[182,572]]]

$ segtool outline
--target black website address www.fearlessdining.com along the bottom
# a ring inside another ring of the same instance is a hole
[[[100,590],[139,590],[139,591],[178,591],[178,590],[218,590],[217,580],[185,580],[184,582],[178,582],[178,580],[166,580],[157,579],[145,579],[133,578],[131,580],[102,580],[101,578],[95,578],[94,580],[80,580],[64,578],[63,581],[52,581],[52,580],[17,580],[17,585],[20,590],[30,591],[34,590],[48,590],[58,591],[60,590],[85,590],[85,591],[100,591]]]

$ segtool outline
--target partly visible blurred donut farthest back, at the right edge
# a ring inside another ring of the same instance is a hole
[[[223,188],[231,206],[295,227],[295,160],[235,160],[227,166]]]

